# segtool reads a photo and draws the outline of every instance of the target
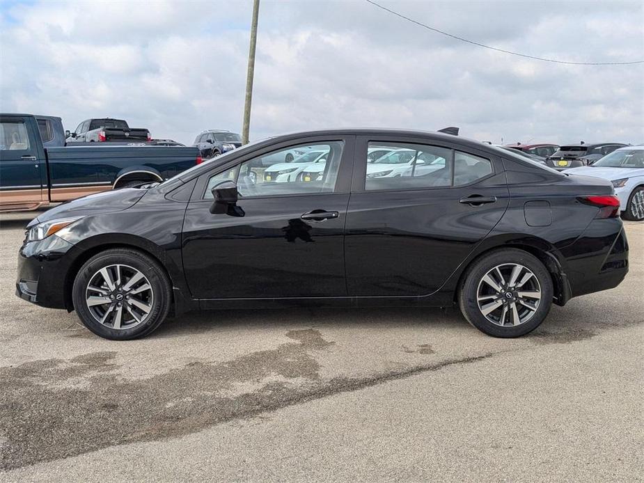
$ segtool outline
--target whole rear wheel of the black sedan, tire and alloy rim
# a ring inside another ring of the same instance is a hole
[[[459,305],[467,321],[494,337],[519,337],[537,328],[552,303],[552,280],[534,255],[504,248],[466,272]]]

